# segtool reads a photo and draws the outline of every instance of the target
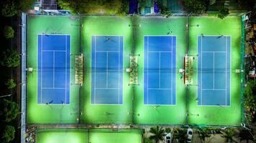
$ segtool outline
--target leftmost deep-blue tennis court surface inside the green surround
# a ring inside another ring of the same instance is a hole
[[[70,103],[70,35],[38,35],[38,104]]]

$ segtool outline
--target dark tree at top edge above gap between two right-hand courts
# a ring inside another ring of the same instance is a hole
[[[187,11],[193,14],[202,14],[206,11],[206,1],[204,0],[183,0]]]

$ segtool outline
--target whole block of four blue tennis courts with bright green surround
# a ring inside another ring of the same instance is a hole
[[[241,124],[239,16],[78,18],[28,16],[28,124]]]

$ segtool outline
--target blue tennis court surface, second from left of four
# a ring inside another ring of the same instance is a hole
[[[122,104],[123,36],[92,36],[91,103]]]

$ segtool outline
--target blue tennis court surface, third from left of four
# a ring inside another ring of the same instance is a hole
[[[144,38],[144,104],[175,104],[176,36]]]

